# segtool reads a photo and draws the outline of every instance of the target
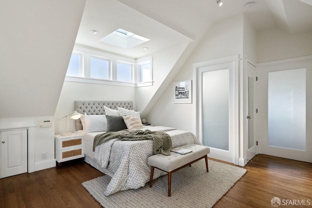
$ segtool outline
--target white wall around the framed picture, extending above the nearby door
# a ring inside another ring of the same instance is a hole
[[[193,80],[193,63],[243,53],[243,15],[216,22],[191,57],[178,72],[174,81]],[[193,88],[194,89],[194,88]],[[193,132],[193,104],[174,104],[173,84],[158,99],[147,120]]]

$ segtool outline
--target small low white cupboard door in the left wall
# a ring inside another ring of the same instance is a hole
[[[1,132],[1,178],[27,172],[27,130]]]

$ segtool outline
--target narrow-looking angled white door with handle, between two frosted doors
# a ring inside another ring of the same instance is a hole
[[[246,72],[246,150],[247,162],[257,154],[256,143],[256,68],[247,62]]]

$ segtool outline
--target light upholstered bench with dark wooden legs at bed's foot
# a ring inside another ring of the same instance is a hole
[[[207,154],[210,152],[208,147],[202,145],[188,144],[182,148],[192,150],[187,154],[179,154],[171,152],[171,155],[154,154],[147,159],[147,163],[151,166],[150,187],[153,186],[154,168],[168,172],[168,196],[171,196],[171,173],[180,170],[192,163],[205,158],[206,170],[208,170]]]

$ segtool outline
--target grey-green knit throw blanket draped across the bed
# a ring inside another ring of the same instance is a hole
[[[171,137],[165,132],[154,132],[151,130],[121,130],[118,132],[106,132],[94,137],[93,151],[96,146],[107,142],[110,139],[119,139],[122,141],[153,140],[153,153],[170,155],[172,148]]]

